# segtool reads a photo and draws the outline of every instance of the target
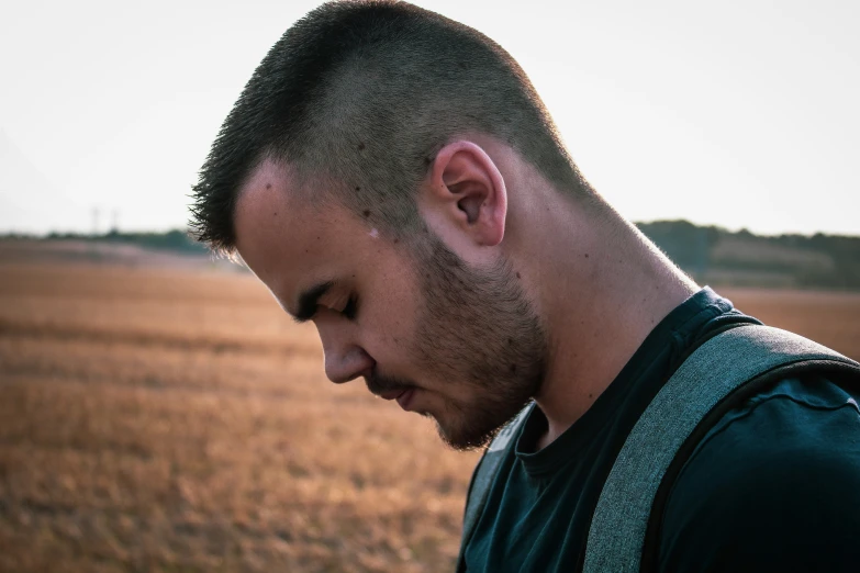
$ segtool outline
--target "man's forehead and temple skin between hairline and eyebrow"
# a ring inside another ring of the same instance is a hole
[[[266,160],[236,202],[236,248],[281,303],[313,281],[337,279],[376,235],[342,205],[309,201],[298,181],[289,166]]]

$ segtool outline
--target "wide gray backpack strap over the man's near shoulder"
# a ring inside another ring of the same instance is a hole
[[[655,495],[700,422],[747,381],[806,361],[860,366],[795,334],[758,325],[721,333],[693,351],[648,405],[610,471],[592,517],[583,573],[638,572]]]

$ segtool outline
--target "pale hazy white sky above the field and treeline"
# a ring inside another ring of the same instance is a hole
[[[209,145],[315,1],[10,3],[0,233],[183,227]],[[635,221],[860,235],[860,2],[416,2],[523,66]]]

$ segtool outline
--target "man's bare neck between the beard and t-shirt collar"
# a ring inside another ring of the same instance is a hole
[[[543,247],[554,252],[538,263],[539,277],[552,277],[539,288],[550,348],[535,396],[548,420],[538,448],[577,422],[655,326],[699,290],[632,225],[557,213],[543,226]]]

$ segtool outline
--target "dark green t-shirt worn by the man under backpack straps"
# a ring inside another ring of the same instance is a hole
[[[738,323],[758,321],[703,289],[540,451],[546,418],[534,408],[499,465],[467,571],[580,571],[597,496],[633,425],[693,348]],[[781,381],[727,414],[669,494],[659,571],[860,570],[858,400],[856,387],[812,377]]]

